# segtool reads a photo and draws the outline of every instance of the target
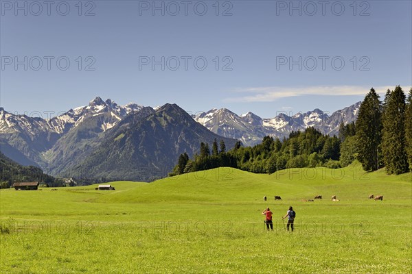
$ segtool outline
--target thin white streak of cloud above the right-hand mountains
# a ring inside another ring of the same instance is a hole
[[[405,86],[406,87],[406,86]],[[235,96],[226,98],[225,101],[230,102],[268,102],[276,101],[277,99],[287,97],[299,97],[304,95],[320,95],[320,96],[351,96],[351,95],[366,95],[371,86],[309,86],[296,88],[282,87],[257,87],[257,88],[241,88],[233,90]],[[374,87],[380,95],[385,95],[387,89],[393,90],[395,86],[378,86]],[[404,88],[409,90],[409,87]],[[245,95],[247,94],[247,95]],[[239,96],[240,95],[240,96]]]

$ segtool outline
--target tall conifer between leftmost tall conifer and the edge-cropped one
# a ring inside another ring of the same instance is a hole
[[[405,138],[405,95],[400,86],[387,92],[382,113],[382,154],[388,174],[409,169]]]

